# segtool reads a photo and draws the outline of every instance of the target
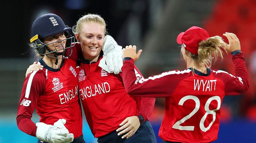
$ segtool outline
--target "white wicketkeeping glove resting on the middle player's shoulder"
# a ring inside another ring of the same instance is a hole
[[[102,51],[103,58],[100,60],[99,66],[108,73],[118,74],[122,72],[122,46],[119,46],[113,37],[106,35],[104,37]]]

